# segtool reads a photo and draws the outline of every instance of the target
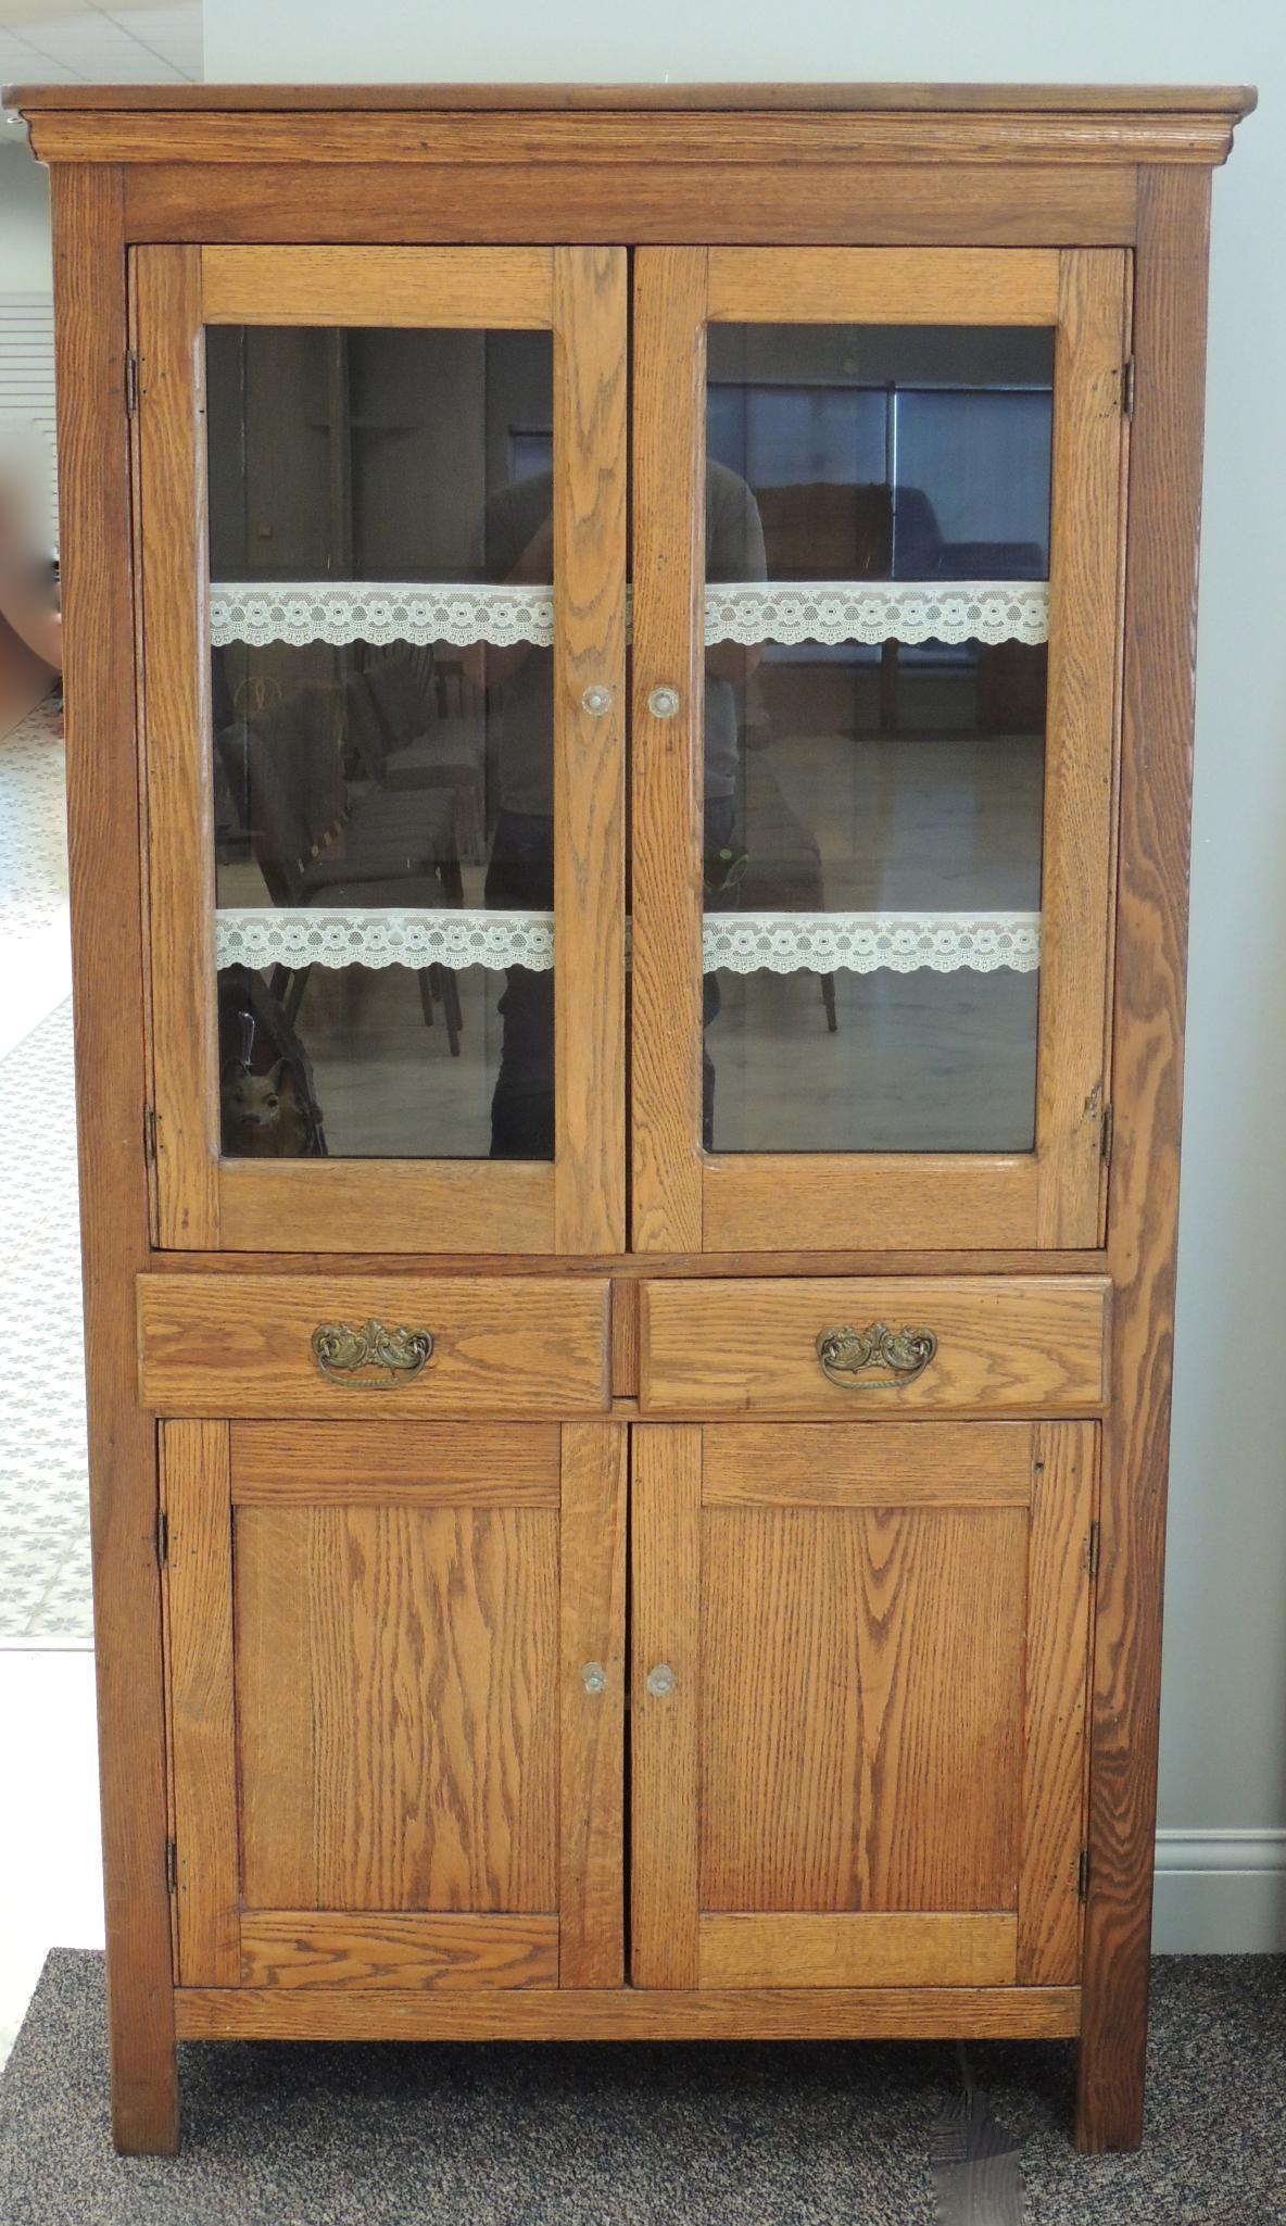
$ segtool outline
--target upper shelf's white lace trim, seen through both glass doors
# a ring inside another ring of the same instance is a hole
[[[741,581],[705,590],[705,641],[1046,641],[1046,581]],[[300,581],[256,588],[216,583],[209,590],[209,637],[216,650],[245,641],[447,641],[510,648],[554,641],[552,588],[421,588],[398,581]]]

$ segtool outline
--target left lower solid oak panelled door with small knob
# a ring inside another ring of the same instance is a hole
[[[625,1431],[167,1422],[185,1988],[623,1979]]]

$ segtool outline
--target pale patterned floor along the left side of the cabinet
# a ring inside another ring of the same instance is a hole
[[[102,1946],[62,717],[0,741],[0,2061],[44,1954]],[[49,1759],[58,1756],[58,1767]]]

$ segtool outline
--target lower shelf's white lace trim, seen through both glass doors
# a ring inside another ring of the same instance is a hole
[[[1035,973],[1039,913],[708,913],[705,973]],[[552,913],[220,910],[220,966],[554,964]]]

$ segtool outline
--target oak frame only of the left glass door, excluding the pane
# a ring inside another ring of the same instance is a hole
[[[140,247],[140,670],[162,1249],[599,1253],[625,1242],[625,252]],[[222,1160],[202,327],[554,336],[554,1160]],[[162,530],[147,525],[160,519]],[[610,688],[590,712],[590,683]]]

